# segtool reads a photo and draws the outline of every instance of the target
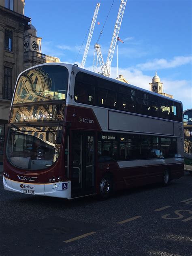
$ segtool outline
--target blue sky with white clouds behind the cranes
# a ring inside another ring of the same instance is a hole
[[[92,70],[94,43],[105,23],[113,0],[26,0],[25,15],[42,37],[42,53],[61,62],[81,65],[96,4],[100,2],[85,68]],[[114,0],[99,40],[104,61],[111,43],[120,0]],[[88,36],[88,35],[87,35]],[[118,43],[118,73],[133,85],[149,90],[159,75],[164,92],[192,108],[192,1],[127,0]],[[84,44],[82,46],[83,40]],[[82,47],[81,47],[82,46]],[[79,53],[79,49],[81,51]],[[78,55],[79,53],[79,55]],[[111,77],[116,77],[116,51]]]

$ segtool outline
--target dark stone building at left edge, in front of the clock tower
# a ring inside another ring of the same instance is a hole
[[[24,0],[0,0],[0,164],[15,81],[23,71]]]

